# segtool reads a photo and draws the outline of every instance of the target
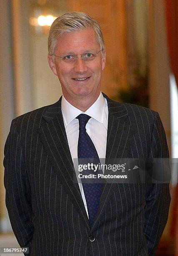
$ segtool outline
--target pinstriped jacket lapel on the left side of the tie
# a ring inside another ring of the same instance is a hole
[[[46,109],[39,134],[58,179],[63,183],[70,200],[75,205],[85,225],[90,229],[80,188],[78,183],[73,181],[76,175],[63,123],[61,98],[57,103]]]

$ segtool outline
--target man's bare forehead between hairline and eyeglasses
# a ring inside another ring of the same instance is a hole
[[[75,52],[100,49],[93,28],[84,28],[73,32],[65,32],[58,37],[55,53]]]

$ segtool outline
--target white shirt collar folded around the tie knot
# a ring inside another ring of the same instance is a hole
[[[65,125],[68,125],[72,120],[74,120],[74,118],[76,118],[81,113],[89,115],[95,120],[97,120],[98,122],[103,123],[104,111],[105,111],[105,100],[104,100],[103,94],[100,92],[98,99],[93,103],[93,105],[91,105],[91,107],[88,108],[88,110],[83,112],[80,109],[75,108],[73,105],[71,105],[63,95],[62,101],[61,101],[61,109],[62,109]]]

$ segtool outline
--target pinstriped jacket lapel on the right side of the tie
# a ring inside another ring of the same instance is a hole
[[[103,94],[104,95],[104,94]],[[130,141],[132,139],[132,128],[124,104],[110,100],[106,95],[104,97],[108,102],[108,133],[105,164],[110,159],[127,158],[130,149]],[[104,185],[103,194],[100,199],[98,213],[93,223],[93,228],[97,225],[100,215],[105,210],[110,195],[114,191],[117,184],[106,183]]]

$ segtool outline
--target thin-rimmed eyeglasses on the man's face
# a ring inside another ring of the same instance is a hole
[[[103,50],[100,50],[100,51],[103,51]],[[65,55],[65,56],[58,56],[58,55],[55,55],[55,54],[51,54],[51,55],[60,58],[62,61],[66,62],[66,63],[74,63],[78,59],[78,55],[81,55],[81,58],[84,61],[93,61],[98,56],[98,53],[100,51],[85,52],[84,54],[76,54],[76,55],[68,54],[68,55]]]

